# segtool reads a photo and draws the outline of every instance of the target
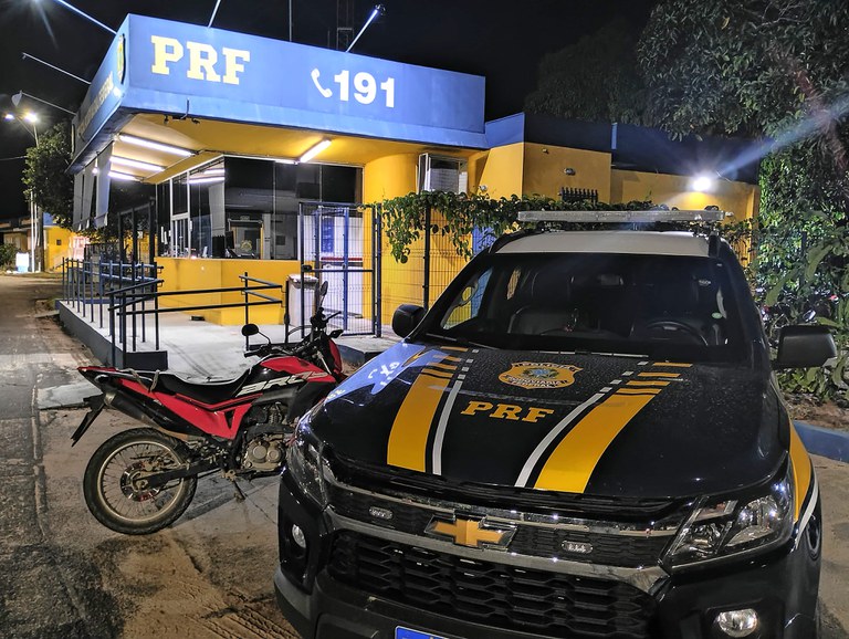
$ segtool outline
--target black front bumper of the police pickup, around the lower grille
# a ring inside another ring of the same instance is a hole
[[[290,481],[284,472],[279,517],[281,566],[274,584],[279,605],[305,639],[396,639],[399,627],[418,630],[424,637],[446,639],[539,639],[567,632],[564,629],[539,631],[533,626],[515,624],[511,627],[497,620],[488,625],[485,618],[470,620],[459,611],[440,606],[436,589],[432,606],[409,605],[409,601],[399,600],[402,598],[387,598],[367,587],[338,580],[327,566],[335,535],[346,534],[344,522],[340,525],[338,518],[316,512],[311,502],[290,489]],[[289,531],[293,524],[305,534],[306,553],[298,554],[292,546]],[[808,526],[819,532],[818,505]],[[616,582],[616,588],[629,588],[637,595],[637,598],[617,605],[633,606],[635,600],[647,603],[647,609],[650,609],[648,625],[639,627],[635,633],[615,635],[605,635],[600,630],[594,635],[591,626],[584,625],[583,633],[574,636],[722,639],[726,636],[715,627],[716,615],[724,610],[753,608],[758,612],[759,625],[748,636],[752,639],[813,639],[816,637],[819,583],[817,540],[817,535],[811,536],[806,531],[798,544],[788,544],[769,555],[689,574],[661,573],[658,578],[654,568],[651,582],[626,577],[629,583],[625,585],[619,583],[621,575],[611,575],[608,583]],[[453,548],[447,544],[442,552],[451,553]],[[486,561],[492,562],[492,555]],[[505,567],[507,569],[512,568]],[[598,574],[591,578],[597,577]]]

